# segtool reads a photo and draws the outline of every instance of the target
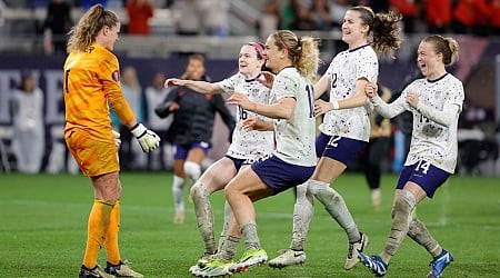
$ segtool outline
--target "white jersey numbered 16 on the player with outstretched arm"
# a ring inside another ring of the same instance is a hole
[[[257,77],[261,78],[261,76]],[[241,73],[217,82],[226,92],[244,93],[251,101],[259,103],[269,103],[270,89],[260,83],[257,79],[246,80]],[[268,157],[274,150],[273,131],[246,131],[243,130],[243,120],[256,117],[261,120],[272,121],[261,115],[237,109],[237,123],[232,133],[232,143],[229,146],[227,155],[233,158],[246,159],[252,162]]]

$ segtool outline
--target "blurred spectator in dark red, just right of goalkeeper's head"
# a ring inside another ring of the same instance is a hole
[[[150,0],[129,0],[126,9],[129,16],[127,33],[149,36],[149,19],[153,17],[154,4]]]

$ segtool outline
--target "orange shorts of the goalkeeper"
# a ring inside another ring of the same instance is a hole
[[[97,141],[83,130],[73,130],[64,139],[84,176],[96,177],[120,170],[118,149],[113,141]]]

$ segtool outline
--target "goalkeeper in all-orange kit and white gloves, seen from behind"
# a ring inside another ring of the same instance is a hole
[[[64,62],[64,140],[83,175],[90,178],[94,201],[88,221],[87,248],[80,268],[82,277],[142,277],[120,258],[121,185],[119,180],[119,137],[111,129],[109,106],[139,140],[144,152],[159,146],[160,138],[136,121],[120,88],[120,67],[112,53],[120,20],[97,4],[69,32]],[[107,267],[97,259],[106,248]]]

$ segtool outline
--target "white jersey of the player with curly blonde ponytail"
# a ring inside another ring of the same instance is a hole
[[[312,85],[296,68],[284,68],[274,78],[271,102],[281,98],[294,98],[296,108],[289,120],[274,119],[274,155],[292,165],[316,166]]]

